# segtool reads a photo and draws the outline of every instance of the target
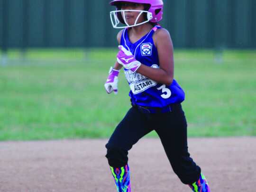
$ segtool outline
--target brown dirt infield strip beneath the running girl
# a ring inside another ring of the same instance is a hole
[[[116,192],[107,140],[0,142],[0,192]],[[211,192],[256,192],[256,137],[189,138]],[[156,138],[129,152],[132,192],[190,192]]]

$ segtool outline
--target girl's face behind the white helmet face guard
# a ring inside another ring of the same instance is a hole
[[[122,13],[122,17],[125,17],[126,22],[129,25],[134,25],[138,15],[140,14],[140,11],[144,10],[144,5],[142,3],[132,3],[123,1],[121,5],[121,10],[127,10]],[[138,10],[138,11],[129,11],[129,10]],[[140,17],[137,20],[138,23],[142,23],[144,20],[143,14],[140,15]]]

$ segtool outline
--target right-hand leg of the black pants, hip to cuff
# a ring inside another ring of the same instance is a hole
[[[187,122],[181,105],[177,105],[171,112],[162,113],[161,118],[155,131],[161,139],[174,173],[183,184],[192,185],[198,182],[201,168],[195,164],[188,152]]]

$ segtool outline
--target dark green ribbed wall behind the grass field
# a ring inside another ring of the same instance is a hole
[[[0,47],[116,46],[108,0],[0,0]],[[179,48],[256,48],[256,0],[164,0]]]

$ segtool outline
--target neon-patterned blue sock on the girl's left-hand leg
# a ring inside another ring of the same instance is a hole
[[[126,165],[120,168],[110,167],[110,169],[115,179],[118,192],[131,192],[129,166]]]

